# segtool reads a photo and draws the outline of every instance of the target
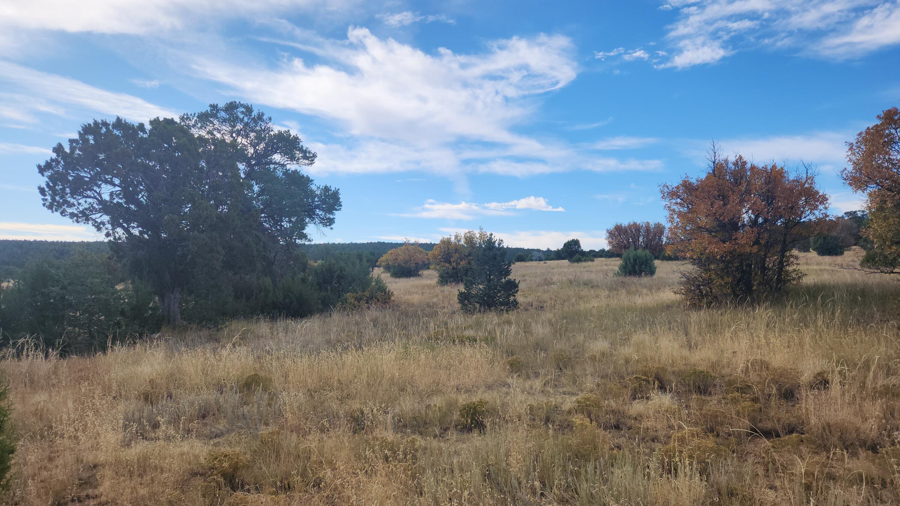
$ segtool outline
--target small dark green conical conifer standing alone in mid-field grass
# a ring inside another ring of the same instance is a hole
[[[472,268],[466,271],[456,300],[464,311],[509,311],[518,307],[518,281],[509,278],[503,240],[483,234],[474,248]]]

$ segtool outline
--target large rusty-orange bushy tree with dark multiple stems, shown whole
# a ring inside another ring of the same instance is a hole
[[[754,301],[798,282],[792,246],[813,233],[828,205],[805,169],[729,159],[713,145],[706,175],[662,185],[669,247],[692,265],[680,271],[676,293],[702,306]]]

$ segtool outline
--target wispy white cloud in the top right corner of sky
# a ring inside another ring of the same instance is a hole
[[[675,53],[658,67],[715,63],[733,46],[852,58],[900,43],[896,0],[694,0],[661,8],[680,11],[667,35]]]

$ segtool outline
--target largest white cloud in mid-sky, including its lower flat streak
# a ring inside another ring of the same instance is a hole
[[[347,40],[302,40],[278,43],[313,53],[316,65],[302,58],[263,68],[211,58],[192,65],[243,100],[338,122],[340,144],[309,143],[319,154],[313,173],[416,170],[464,186],[464,173],[524,176],[635,165],[594,159],[580,147],[514,131],[533,114],[533,97],[577,74],[565,37],[495,40],[475,54],[428,54],[356,27]]]

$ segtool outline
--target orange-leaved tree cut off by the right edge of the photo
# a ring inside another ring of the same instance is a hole
[[[871,247],[862,267],[900,273],[900,109],[878,115],[878,123],[847,145],[851,167],[841,173],[853,191],[866,194],[869,222],[862,236]]]

